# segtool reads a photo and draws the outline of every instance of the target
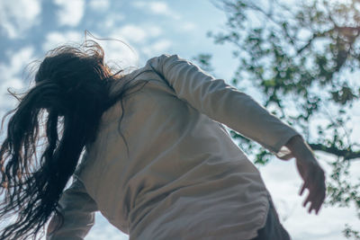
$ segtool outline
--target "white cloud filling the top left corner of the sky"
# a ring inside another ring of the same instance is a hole
[[[40,12],[40,0],[0,1],[0,28],[9,38],[19,38],[40,22]]]

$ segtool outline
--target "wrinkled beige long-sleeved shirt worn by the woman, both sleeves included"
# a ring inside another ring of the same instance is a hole
[[[123,102],[120,126],[129,155],[117,102],[104,112],[94,144],[59,201],[64,223],[47,239],[84,239],[97,210],[130,239],[256,237],[269,194],[222,124],[275,154],[298,132],[176,55],[151,58],[126,77],[149,80]]]

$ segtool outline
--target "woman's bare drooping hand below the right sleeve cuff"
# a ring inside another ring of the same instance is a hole
[[[315,213],[318,214],[325,200],[325,173],[312,154],[311,147],[303,141],[301,136],[294,136],[285,146],[292,151],[293,156],[296,158],[296,166],[302,176],[303,184],[300,195],[305,189],[309,191],[309,195],[303,202],[303,207],[306,207],[308,202],[311,202],[309,213],[315,210]]]

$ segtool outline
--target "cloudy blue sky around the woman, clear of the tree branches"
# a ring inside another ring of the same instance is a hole
[[[98,38],[123,40],[135,49],[134,53],[119,41],[100,41],[107,60],[118,66],[141,67],[148,58],[163,53],[192,59],[209,52],[214,74],[229,80],[237,65],[231,48],[215,45],[206,36],[208,31],[224,28],[225,21],[225,14],[209,0],[0,0],[0,115],[15,103],[6,89],[28,86],[31,76],[26,77],[24,67],[59,44],[81,42],[85,30]],[[320,164],[327,169],[330,157],[320,156]],[[297,195],[302,182],[293,161],[275,160],[260,172],[294,240],[345,239],[341,234],[345,223],[360,228],[354,208],[324,208],[320,216],[308,215],[301,206],[303,198]],[[85,239],[128,237],[97,214]]]

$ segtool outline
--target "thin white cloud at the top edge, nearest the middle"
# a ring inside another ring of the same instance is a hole
[[[145,2],[145,1],[136,1],[132,4],[137,8],[145,9],[150,13],[157,14],[157,15],[165,15],[170,16],[175,19],[180,19],[181,16],[178,13],[175,13],[170,7],[166,4],[166,2],[161,1],[152,1],[152,2]]]

